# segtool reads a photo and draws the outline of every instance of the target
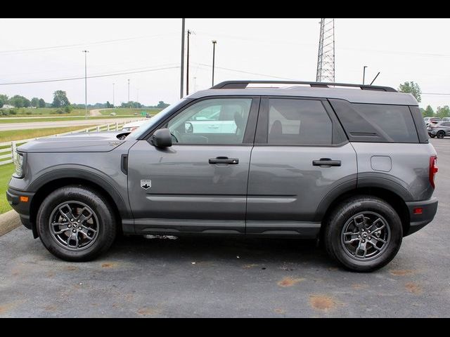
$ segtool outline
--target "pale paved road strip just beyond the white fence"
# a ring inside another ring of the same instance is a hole
[[[138,117],[139,118],[139,117]],[[25,123],[6,123],[0,124],[0,131],[8,130],[25,130],[32,128],[58,128],[64,126],[84,126],[84,125],[101,125],[108,123],[115,123],[121,121],[131,121],[137,119],[136,117],[127,118],[104,118],[104,119],[84,119],[72,121],[32,121]]]

